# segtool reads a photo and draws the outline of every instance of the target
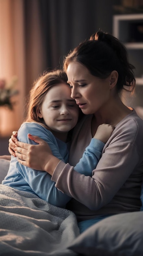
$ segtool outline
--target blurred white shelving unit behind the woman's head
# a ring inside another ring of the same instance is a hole
[[[129,61],[135,66],[135,95],[131,98],[124,92],[123,101],[133,108],[143,108],[143,13],[113,16],[113,36],[124,43]]]

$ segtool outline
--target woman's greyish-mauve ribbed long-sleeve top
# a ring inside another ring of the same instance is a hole
[[[56,187],[73,199],[67,208],[78,221],[100,214],[139,211],[143,180],[143,120],[135,110],[117,124],[105,144],[92,177],[74,170],[91,141],[92,116],[85,117],[75,130],[69,164],[60,161],[52,175]]]

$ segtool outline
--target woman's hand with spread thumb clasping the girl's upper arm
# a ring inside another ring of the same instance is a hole
[[[38,145],[16,141],[15,155],[19,158],[17,159],[18,162],[35,170],[46,171],[52,175],[60,160],[52,155],[48,143],[43,139],[30,134],[28,134],[28,137]]]

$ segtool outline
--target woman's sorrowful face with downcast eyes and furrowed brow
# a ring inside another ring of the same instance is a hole
[[[94,114],[106,107],[110,99],[110,76],[100,79],[93,76],[84,65],[71,62],[67,67],[67,77],[72,89],[71,97],[84,114]]]

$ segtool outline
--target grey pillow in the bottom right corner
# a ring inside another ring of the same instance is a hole
[[[143,256],[143,211],[101,220],[80,234],[69,249],[83,256]]]

